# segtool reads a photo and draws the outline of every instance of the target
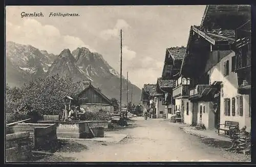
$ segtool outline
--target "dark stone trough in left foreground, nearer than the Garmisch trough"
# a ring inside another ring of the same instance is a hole
[[[6,127],[6,134],[29,132],[34,150],[48,150],[57,142],[56,129],[56,124],[18,123]]]

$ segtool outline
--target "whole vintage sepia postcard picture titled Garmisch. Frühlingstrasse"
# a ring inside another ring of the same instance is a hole
[[[250,10],[6,6],[6,163],[250,162]]]

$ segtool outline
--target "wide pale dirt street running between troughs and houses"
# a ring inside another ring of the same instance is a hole
[[[179,123],[163,119],[134,118],[138,127],[114,133],[128,136],[118,144],[79,141],[81,152],[62,152],[75,161],[245,161],[240,155],[204,144],[199,137],[180,130]]]

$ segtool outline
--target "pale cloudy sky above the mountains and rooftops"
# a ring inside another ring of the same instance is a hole
[[[161,77],[166,48],[186,46],[191,25],[200,25],[205,6],[7,6],[6,41],[60,54],[87,47],[142,88]],[[21,17],[21,13],[44,17]],[[49,17],[51,12],[79,16]]]

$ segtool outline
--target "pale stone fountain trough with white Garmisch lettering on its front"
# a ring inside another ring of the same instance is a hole
[[[55,124],[58,138],[92,138],[104,137],[108,121],[38,121],[40,124]]]

